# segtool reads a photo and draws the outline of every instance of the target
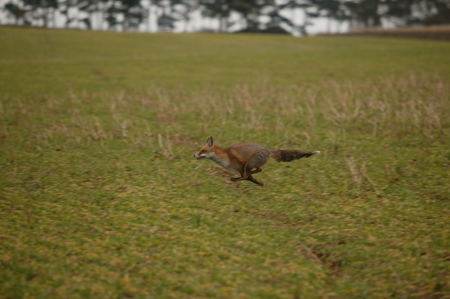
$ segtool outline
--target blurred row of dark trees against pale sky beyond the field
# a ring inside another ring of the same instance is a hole
[[[450,0],[9,0],[2,9],[2,24],[126,31],[151,22],[158,31],[177,22],[188,31],[194,19],[211,20],[219,32],[302,35],[317,18],[352,29],[450,24]]]

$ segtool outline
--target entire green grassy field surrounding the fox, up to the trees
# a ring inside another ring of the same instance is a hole
[[[450,298],[450,43],[0,42],[0,298]],[[209,136],[321,153],[232,183]]]

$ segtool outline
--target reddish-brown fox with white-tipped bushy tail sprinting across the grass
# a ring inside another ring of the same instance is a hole
[[[296,150],[274,150],[269,151],[265,146],[257,143],[242,143],[230,146],[229,148],[221,148],[212,137],[206,141],[206,145],[201,150],[194,154],[197,160],[209,159],[229,171],[235,171],[241,175],[240,178],[231,178],[231,181],[249,180],[259,186],[264,186],[264,183],[256,181],[251,176],[254,173],[259,173],[261,167],[267,163],[269,158],[274,158],[278,162],[290,162],[299,158],[314,155],[320,151],[296,151]],[[252,169],[255,168],[254,171]]]

